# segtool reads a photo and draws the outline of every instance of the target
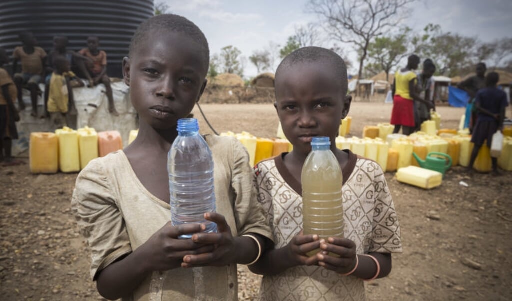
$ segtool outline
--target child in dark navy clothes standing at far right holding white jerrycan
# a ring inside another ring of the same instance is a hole
[[[503,132],[503,121],[505,120],[505,108],[508,106],[507,95],[498,89],[497,84],[500,81],[500,75],[496,72],[490,72],[485,77],[484,89],[480,89],[475,96],[475,109],[477,112],[477,122],[473,129],[471,142],[475,144],[471,153],[470,165],[468,171],[473,170],[473,165],[478,157],[478,152],[484,142],[487,140],[487,146],[493,143],[493,135],[497,131]],[[493,162],[493,173],[499,175],[498,159],[491,158]]]

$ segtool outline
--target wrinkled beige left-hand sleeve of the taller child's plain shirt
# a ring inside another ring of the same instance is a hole
[[[71,201],[80,232],[91,249],[91,277],[132,252],[122,214],[102,159],[91,161],[78,175]]]

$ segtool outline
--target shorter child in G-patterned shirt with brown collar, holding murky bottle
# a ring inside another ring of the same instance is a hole
[[[293,150],[255,167],[258,197],[275,238],[275,248],[249,267],[264,275],[262,300],[364,300],[363,280],[387,276],[391,253],[402,251],[382,169],[336,148],[339,123],[351,104],[347,85],[345,62],[323,48],[296,50],[275,73],[275,108]],[[302,234],[301,171],[316,136],[330,138],[343,171],[345,238]],[[306,255],[317,249],[325,252]]]

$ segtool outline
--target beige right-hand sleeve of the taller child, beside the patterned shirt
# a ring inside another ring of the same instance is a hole
[[[234,217],[238,233],[255,233],[272,239],[270,227],[267,224],[263,208],[258,202],[255,179],[249,164],[249,154],[238,140],[233,139],[233,176],[231,186],[234,189]]]

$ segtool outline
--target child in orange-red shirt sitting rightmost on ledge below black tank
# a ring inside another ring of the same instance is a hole
[[[106,75],[106,52],[99,50],[98,47],[99,38],[97,36],[90,36],[87,38],[87,48],[78,52],[92,60],[92,63],[86,63],[86,73],[82,74],[82,76],[89,80],[89,87],[94,87],[100,83],[105,85],[106,98],[109,100],[109,112],[114,116],[119,116],[114,104],[110,78]]]

